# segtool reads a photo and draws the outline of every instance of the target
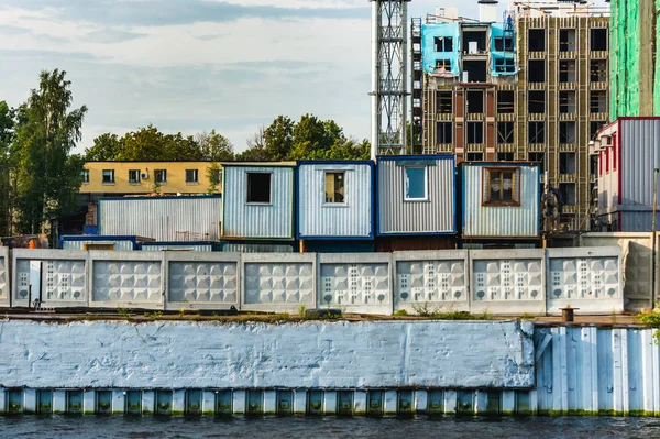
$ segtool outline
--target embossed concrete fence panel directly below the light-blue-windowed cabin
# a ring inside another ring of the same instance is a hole
[[[394,253],[394,309],[470,310],[468,251]]]

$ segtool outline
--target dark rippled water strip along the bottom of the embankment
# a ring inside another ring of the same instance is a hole
[[[0,438],[658,438],[660,419],[2,417]]]

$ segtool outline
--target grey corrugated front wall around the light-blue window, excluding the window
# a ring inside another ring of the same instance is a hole
[[[428,201],[406,201],[405,168],[428,165]],[[453,233],[454,162],[443,158],[378,160],[378,233]]]

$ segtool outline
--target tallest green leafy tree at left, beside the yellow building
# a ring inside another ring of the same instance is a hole
[[[23,232],[43,232],[46,221],[76,205],[82,158],[70,152],[80,141],[87,107],[69,111],[73,94],[65,77],[64,70],[42,72],[38,88],[18,112],[12,147]]]

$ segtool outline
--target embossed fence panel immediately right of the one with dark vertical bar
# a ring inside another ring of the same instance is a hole
[[[163,309],[163,252],[89,252],[89,306]]]

